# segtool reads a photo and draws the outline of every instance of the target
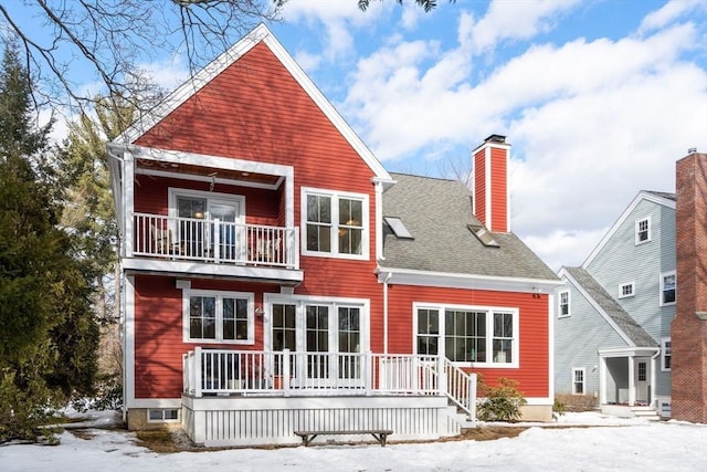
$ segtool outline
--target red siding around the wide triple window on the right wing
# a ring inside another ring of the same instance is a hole
[[[413,352],[413,303],[503,306],[519,310],[520,339],[518,368],[476,368],[490,385],[499,377],[520,384],[527,397],[549,395],[548,297],[534,298],[530,293],[468,291],[390,285],[388,292],[389,353]],[[382,327],[381,327],[382,329]],[[376,349],[377,347],[374,347]]]

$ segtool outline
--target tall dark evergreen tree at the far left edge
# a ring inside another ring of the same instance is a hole
[[[0,442],[36,438],[49,408],[88,394],[97,325],[91,271],[60,225],[51,123],[33,123],[32,81],[6,44],[0,70]]]

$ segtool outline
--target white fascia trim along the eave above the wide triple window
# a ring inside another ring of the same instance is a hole
[[[500,292],[549,294],[553,292],[558,285],[562,284],[562,281],[559,279],[557,281],[552,281],[545,279],[499,277],[492,275],[418,271],[414,269],[393,269],[383,266],[379,266],[376,270],[376,273],[378,274],[379,283],[382,283],[388,274],[390,274],[392,279],[389,282],[398,285],[492,290]]]

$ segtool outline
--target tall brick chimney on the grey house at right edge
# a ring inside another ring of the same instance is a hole
[[[676,315],[671,325],[672,417],[707,422],[707,154],[677,161]]]

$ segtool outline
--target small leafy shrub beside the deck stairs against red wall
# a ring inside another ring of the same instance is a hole
[[[520,407],[527,403],[518,382],[500,377],[498,386],[484,384],[478,377],[478,392],[483,398],[476,407],[476,415],[482,421],[517,421],[520,419]]]

